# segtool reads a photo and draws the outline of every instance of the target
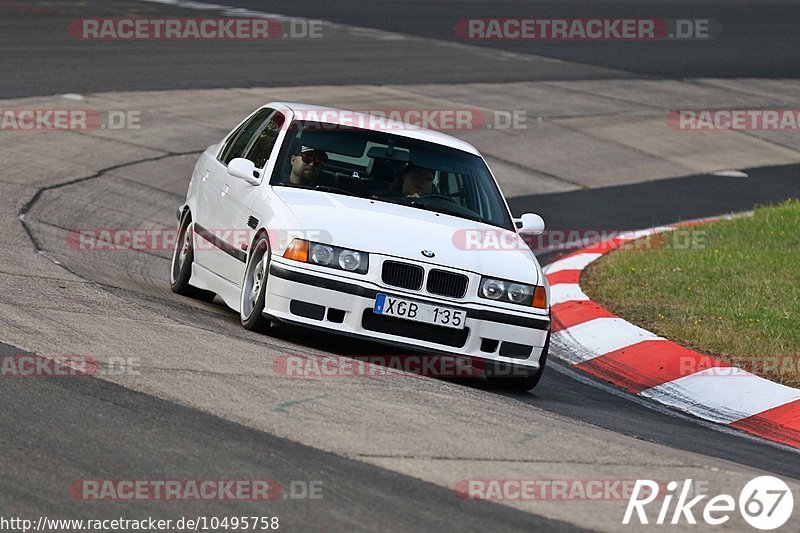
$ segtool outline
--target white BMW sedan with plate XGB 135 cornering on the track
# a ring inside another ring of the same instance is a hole
[[[293,324],[464,356],[528,390],[550,289],[480,153],[369,115],[273,102],[198,160],[178,208],[174,292]],[[502,245],[498,245],[502,243]]]

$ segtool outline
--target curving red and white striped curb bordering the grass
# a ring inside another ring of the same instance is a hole
[[[755,376],[614,316],[580,287],[583,270],[625,242],[688,222],[620,234],[544,267],[551,342],[573,368],[694,416],[800,448],[800,389]]]

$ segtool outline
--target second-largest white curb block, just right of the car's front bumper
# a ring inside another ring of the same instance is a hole
[[[553,338],[557,338],[562,344],[576,345],[572,353],[568,354],[568,360],[572,364],[582,363],[642,341],[661,339],[621,318],[595,318],[553,333]]]

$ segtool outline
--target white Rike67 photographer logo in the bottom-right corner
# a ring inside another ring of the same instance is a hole
[[[636,480],[622,523],[630,524],[635,516],[640,524],[649,524],[652,516],[648,519],[645,507],[656,500],[661,500],[658,517],[653,522],[657,525],[667,523],[695,525],[697,524],[695,513],[697,513],[698,517],[702,516],[706,524],[719,526],[730,520],[738,504],[738,511],[748,524],[756,529],[769,531],[784,525],[792,516],[794,509],[791,489],[773,476],[759,476],[750,480],[739,493],[738,502],[729,494],[714,496],[706,501],[705,505],[700,502],[708,498],[707,494],[689,499],[692,493],[691,479],[684,480],[680,491],[677,481],[667,483],[666,493],[659,494],[659,489],[662,487],[663,484],[649,479]],[[675,501],[674,507],[673,501]]]

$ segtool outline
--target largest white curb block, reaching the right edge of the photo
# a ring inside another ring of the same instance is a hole
[[[800,389],[741,369],[708,368],[640,393],[700,418],[731,424],[800,399]]]

